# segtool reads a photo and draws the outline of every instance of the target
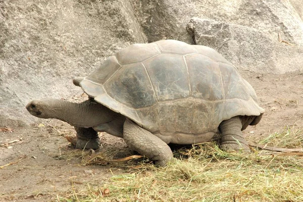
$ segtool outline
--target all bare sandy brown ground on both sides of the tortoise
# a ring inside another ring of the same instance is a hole
[[[286,126],[303,126],[303,73],[241,74],[255,88],[266,110],[257,126],[243,131],[247,139],[258,140]],[[66,155],[74,149],[63,135],[75,134],[73,127],[58,120],[42,121],[0,132],[0,201],[52,201],[49,198],[70,189],[72,184],[90,182],[102,186],[112,175],[126,172],[114,165],[81,166],[81,158]],[[102,150],[123,150],[121,156],[132,154],[122,139],[100,135]],[[4,145],[12,140],[20,141]]]

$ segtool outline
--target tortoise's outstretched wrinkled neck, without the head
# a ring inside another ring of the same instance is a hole
[[[86,100],[83,103],[71,103],[61,99],[49,99],[44,109],[48,117],[59,119],[77,127],[95,127],[115,120],[121,115],[107,107]]]

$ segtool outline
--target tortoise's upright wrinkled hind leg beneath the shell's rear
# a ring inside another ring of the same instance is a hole
[[[224,151],[243,151],[250,153],[248,142],[244,139],[241,128],[242,123],[239,117],[233,117],[222,121],[219,126],[221,130],[221,149]]]

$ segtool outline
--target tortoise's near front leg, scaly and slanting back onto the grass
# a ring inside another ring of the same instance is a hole
[[[155,161],[156,166],[166,166],[173,157],[164,141],[128,119],[124,122],[123,139],[131,149]]]

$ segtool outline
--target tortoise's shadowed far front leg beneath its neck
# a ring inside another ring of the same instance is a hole
[[[75,127],[77,132],[77,144],[79,149],[98,149],[100,146],[100,138],[97,131],[92,128]]]

